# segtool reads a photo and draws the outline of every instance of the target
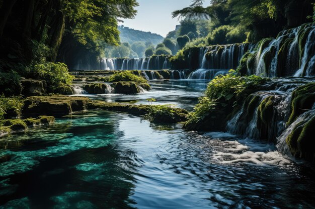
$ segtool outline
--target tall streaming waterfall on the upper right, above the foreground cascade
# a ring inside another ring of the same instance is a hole
[[[248,73],[264,77],[315,76],[315,25],[304,24],[266,39],[247,61]]]

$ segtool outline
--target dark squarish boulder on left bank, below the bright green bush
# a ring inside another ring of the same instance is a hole
[[[23,86],[22,95],[30,96],[42,96],[46,94],[43,81],[34,79],[21,80]]]

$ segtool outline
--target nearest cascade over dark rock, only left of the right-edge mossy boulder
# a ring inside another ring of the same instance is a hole
[[[291,79],[292,80],[292,79]],[[309,81],[308,81],[309,82]],[[276,84],[276,85],[275,85]],[[278,79],[266,85],[268,90],[250,94],[243,103],[242,108],[226,124],[230,133],[240,134],[247,138],[268,140],[276,139],[283,133],[288,121],[291,108],[291,95],[294,89],[305,84],[305,81]],[[274,85],[274,86],[273,86]],[[259,124],[259,105],[265,99],[271,98],[273,104],[272,114],[268,118],[266,136],[262,136],[262,126]]]

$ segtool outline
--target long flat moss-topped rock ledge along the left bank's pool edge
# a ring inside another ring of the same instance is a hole
[[[64,95],[28,97],[25,99],[23,115],[63,116],[73,111],[87,108],[91,100],[86,97],[69,97]]]

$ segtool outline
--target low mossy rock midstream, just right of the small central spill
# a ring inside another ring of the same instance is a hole
[[[138,94],[140,93],[139,86],[148,91],[151,87],[147,83],[134,82],[114,82],[111,85],[117,94]]]

